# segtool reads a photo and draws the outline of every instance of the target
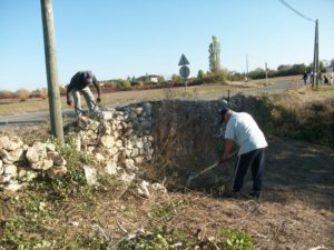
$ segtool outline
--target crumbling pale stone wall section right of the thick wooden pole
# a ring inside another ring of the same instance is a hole
[[[79,118],[69,128],[68,136],[75,138],[77,150],[91,154],[104,166],[105,173],[130,183],[140,173],[138,166],[153,159],[151,110],[151,103],[146,102],[135,107],[96,111],[90,118]],[[95,171],[94,168],[85,166],[86,178],[90,184],[95,183]],[[140,188],[144,187],[143,181],[137,182],[138,193],[149,197],[148,190],[143,191]],[[153,190],[166,191],[158,183],[146,183],[145,187],[151,186]]]

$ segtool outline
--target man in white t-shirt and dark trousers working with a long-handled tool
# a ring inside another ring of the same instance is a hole
[[[222,122],[227,122],[225,144],[220,163],[227,160],[233,141],[238,147],[238,161],[234,176],[233,191],[238,192],[244,186],[244,179],[250,167],[253,177],[253,194],[259,197],[264,176],[264,149],[268,146],[266,139],[253,117],[246,112],[234,112],[227,108],[220,111]]]

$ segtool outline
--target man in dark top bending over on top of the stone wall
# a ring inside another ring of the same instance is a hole
[[[89,89],[89,86],[94,84],[97,93],[98,93],[98,98],[97,100],[95,100],[91,90]],[[84,94],[89,112],[92,112],[94,110],[97,109],[97,103],[99,103],[101,101],[101,89],[100,86],[95,77],[95,74],[91,71],[79,71],[77,72],[69,86],[67,87],[67,104],[71,106],[76,109],[77,116],[81,117],[82,116],[82,110],[81,110],[81,99],[80,99],[80,93]],[[75,103],[72,103],[71,97],[70,94],[73,97],[73,101]]]

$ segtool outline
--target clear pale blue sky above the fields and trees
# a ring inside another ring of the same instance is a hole
[[[285,0],[318,19],[320,60],[334,58],[334,0]],[[229,71],[311,63],[315,24],[279,0],[53,0],[59,84],[207,71],[212,36]],[[0,0],[0,90],[47,88],[39,0]]]

